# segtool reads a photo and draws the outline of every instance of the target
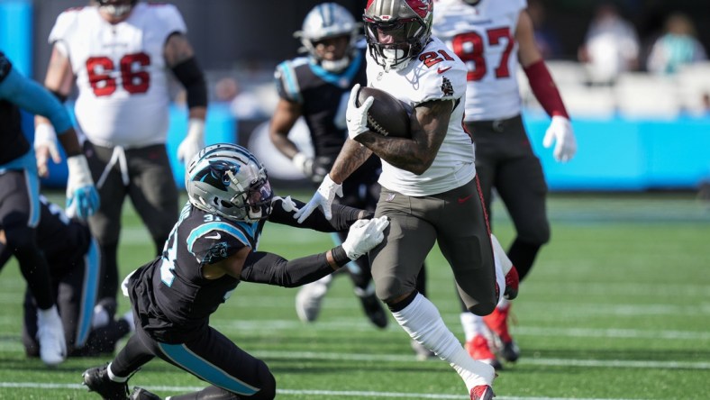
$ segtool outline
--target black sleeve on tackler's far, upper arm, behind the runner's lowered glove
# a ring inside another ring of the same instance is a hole
[[[332,205],[332,219],[330,221],[325,219],[323,211],[318,208],[313,214],[309,215],[303,223],[298,223],[294,219],[294,211],[286,211],[284,207],[281,206],[282,200],[277,200],[274,202],[273,211],[269,215],[269,222],[271,223],[281,223],[283,225],[294,226],[296,228],[308,228],[318,232],[342,232],[347,231],[352,223],[358,221],[358,215],[362,210],[360,208],[353,208],[347,205]],[[298,208],[305,205],[300,200],[293,200]],[[366,212],[364,219],[372,218],[374,213]]]

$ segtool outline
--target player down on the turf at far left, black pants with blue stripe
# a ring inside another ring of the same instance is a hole
[[[40,196],[41,219],[37,243],[50,267],[54,300],[59,307],[67,356],[97,356],[113,353],[116,341],[132,330],[132,314],[114,320],[114,315],[96,307],[101,251],[85,222],[71,218],[59,205]],[[0,227],[0,266],[13,252]],[[2,267],[0,267],[2,268]],[[29,357],[39,357],[37,302],[29,290],[24,295],[23,344]],[[95,314],[96,310],[96,314]]]

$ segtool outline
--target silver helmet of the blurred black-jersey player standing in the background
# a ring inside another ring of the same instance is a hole
[[[350,43],[345,57],[328,60],[318,56],[315,51],[317,41],[346,35],[350,35]],[[352,14],[342,5],[322,3],[308,12],[301,30],[296,31],[294,36],[304,45],[301,50],[307,51],[323,69],[337,72],[350,65],[350,59],[355,53],[355,44],[360,38],[360,23],[356,23]]]

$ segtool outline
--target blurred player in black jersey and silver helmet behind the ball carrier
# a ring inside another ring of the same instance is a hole
[[[276,69],[278,105],[271,117],[269,137],[274,145],[294,166],[317,187],[332,167],[345,139],[348,127],[345,109],[350,88],[356,83],[365,85],[365,43],[361,25],[341,5],[316,5],[306,16],[296,37],[303,43],[308,57],[289,59]],[[313,156],[298,149],[288,139],[288,133],[298,118],[304,117],[311,133]],[[374,211],[380,186],[381,165],[377,156],[358,168],[342,185],[339,204]],[[340,243],[347,232],[334,233]],[[348,271],[370,322],[379,328],[387,326],[387,314],[380,304],[372,284],[369,261],[362,257],[354,261]],[[423,286],[425,278],[419,281]],[[313,322],[321,310],[323,297],[332,282],[332,275],[303,286],[296,295],[296,312],[304,322]],[[420,291],[424,288],[420,287]],[[414,343],[414,342],[413,342]],[[428,354],[428,352],[426,353]]]

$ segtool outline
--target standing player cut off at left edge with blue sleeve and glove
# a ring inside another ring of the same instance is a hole
[[[37,340],[41,360],[57,365],[66,357],[66,341],[50,282],[50,268],[37,244],[40,180],[35,153],[24,136],[20,108],[47,117],[66,152],[68,206],[86,217],[99,205],[94,181],[81,153],[67,110],[36,82],[23,77],[0,51],[0,226],[37,300]],[[56,148],[56,144],[55,144]]]

